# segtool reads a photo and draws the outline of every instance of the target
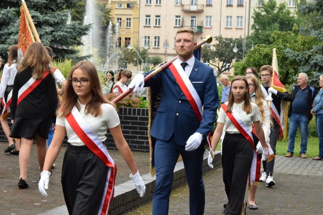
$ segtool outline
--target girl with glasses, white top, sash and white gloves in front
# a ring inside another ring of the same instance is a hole
[[[68,80],[38,189],[47,196],[50,168],[67,134],[69,145],[62,167],[62,188],[69,214],[107,214],[117,173],[117,166],[103,144],[107,129],[131,170],[130,178],[140,197],[145,193],[145,185],[123,136],[117,108],[101,91],[95,66],[89,61],[78,62]]]

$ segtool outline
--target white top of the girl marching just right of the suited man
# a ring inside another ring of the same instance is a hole
[[[251,113],[247,114],[242,109],[243,104],[244,104],[244,101],[242,103],[240,103],[240,104],[234,103],[233,107],[232,107],[232,112],[237,114],[242,119],[242,121],[247,125],[249,130],[252,130],[252,122],[256,122],[256,121],[259,121],[261,119],[259,109],[258,109],[258,107],[257,107],[257,105],[255,103],[251,102],[252,111],[251,111]],[[226,102],[226,105],[228,105],[228,102]],[[228,132],[228,133],[240,133],[240,131],[238,131],[236,126],[234,126],[232,124],[231,120],[229,119],[229,117],[227,116],[227,114],[223,110],[223,108],[220,109],[219,117],[218,117],[217,122],[225,123],[224,130],[226,132]]]

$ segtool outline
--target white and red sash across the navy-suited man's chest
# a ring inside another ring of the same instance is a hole
[[[175,80],[177,81],[178,85],[180,86],[181,90],[183,91],[185,97],[187,98],[188,102],[190,103],[193,111],[198,119],[198,121],[202,120],[202,102],[200,97],[198,96],[195,88],[193,87],[191,81],[187,77],[183,67],[181,64],[175,60],[170,66],[170,70],[172,71]],[[210,141],[211,134],[208,133],[207,135],[207,144],[209,147],[209,151],[212,153],[211,148],[211,141]],[[213,154],[213,153],[212,153]]]

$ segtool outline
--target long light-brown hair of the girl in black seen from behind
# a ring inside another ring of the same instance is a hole
[[[40,79],[44,71],[52,70],[50,68],[51,57],[49,57],[47,50],[41,42],[33,42],[27,48],[21,64],[18,65],[18,73],[31,67],[32,77]]]

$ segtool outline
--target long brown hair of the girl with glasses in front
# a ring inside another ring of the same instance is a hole
[[[101,91],[100,81],[95,66],[88,60],[80,61],[76,63],[75,66],[73,66],[67,80],[72,79],[73,73],[76,69],[81,69],[84,73],[86,73],[89,76],[89,80],[91,82],[92,100],[88,104],[86,104],[85,113],[90,113],[94,117],[101,115],[102,109],[100,105],[102,103],[111,104],[117,110],[117,107],[104,97]],[[57,111],[57,116],[66,117],[71,113],[74,106],[76,106],[77,109],[80,110],[80,105],[77,99],[78,96],[76,95],[73,86],[71,84],[67,84],[61,107]]]

